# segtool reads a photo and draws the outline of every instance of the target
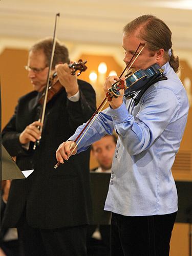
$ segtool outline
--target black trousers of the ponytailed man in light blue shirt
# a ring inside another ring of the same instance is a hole
[[[113,213],[111,256],[168,256],[176,215],[129,217]]]

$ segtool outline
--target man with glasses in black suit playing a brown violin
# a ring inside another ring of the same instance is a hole
[[[19,168],[34,169],[27,179],[12,181],[3,226],[17,227],[23,255],[83,256],[91,216],[90,152],[55,170],[55,151],[92,116],[95,92],[89,83],[71,75],[68,50],[57,41],[51,73],[57,72],[61,89],[46,105],[44,124],[39,122],[51,49],[52,39],[44,39],[29,50],[26,69],[34,91],[18,100],[2,132],[3,144],[16,156]],[[31,144],[39,139],[33,150]]]

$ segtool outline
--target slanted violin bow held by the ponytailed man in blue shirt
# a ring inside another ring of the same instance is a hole
[[[130,61],[127,63],[126,67],[124,68],[124,70],[122,71],[122,73],[120,74],[118,81],[120,80],[120,78],[122,77],[122,75],[124,74],[124,72],[126,71],[127,67],[130,65],[131,61],[133,60],[133,58],[135,57],[138,49],[140,48],[140,46],[142,45],[142,43],[140,42],[139,46],[137,47],[136,51],[134,52],[132,58],[130,59]],[[127,69],[127,71],[129,71],[133,65],[133,63],[135,62],[135,60],[139,57],[140,53],[143,51],[144,47],[146,46],[146,42],[144,44],[144,46],[141,48],[141,50],[138,52],[137,56],[135,57],[134,61],[131,63],[130,67]],[[97,110],[95,111],[95,113],[92,115],[92,117],[89,119],[89,121],[87,122],[87,124],[83,127],[82,131],[79,133],[79,135],[77,136],[77,138],[73,141],[73,143],[70,145],[70,150],[71,154],[69,155],[67,161],[69,160],[70,156],[73,154],[73,152],[75,151],[75,149],[77,148],[78,144],[80,143],[80,141],[82,140],[82,138],[84,137],[84,135],[86,135],[86,133],[88,132],[88,130],[90,129],[91,125],[93,124],[93,122],[95,121],[96,117],[98,116],[98,114],[102,111],[102,109],[104,108],[104,105],[106,104],[106,102],[108,102],[108,98],[105,97],[103,99],[103,101],[101,102],[101,104],[98,106]],[[87,130],[86,130],[87,129]],[[86,131],[85,131],[86,130]],[[84,132],[84,134],[83,134]],[[82,135],[83,134],[83,135]],[[82,135],[82,136],[81,136]],[[81,136],[81,138],[80,138]],[[79,139],[80,138],[80,139]],[[79,141],[77,142],[77,140],[79,139]],[[76,143],[77,142],[77,143]],[[60,165],[60,162],[58,161],[54,168],[56,169],[58,166]]]

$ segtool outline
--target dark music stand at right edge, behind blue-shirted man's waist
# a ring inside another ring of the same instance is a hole
[[[189,225],[189,256],[192,256],[192,182],[176,181],[178,193],[178,212],[176,222],[188,223]]]

